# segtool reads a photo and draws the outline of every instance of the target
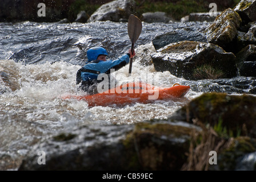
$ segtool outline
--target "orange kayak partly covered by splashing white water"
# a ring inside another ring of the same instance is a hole
[[[93,106],[123,106],[133,103],[149,103],[154,100],[171,100],[181,98],[189,92],[190,86],[174,84],[169,88],[161,88],[142,82],[129,82],[94,95],[66,95],[62,99],[84,100],[89,107]]]

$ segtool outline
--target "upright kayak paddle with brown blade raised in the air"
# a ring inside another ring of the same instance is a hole
[[[134,52],[134,43],[141,35],[142,23],[141,20],[135,16],[130,15],[128,19],[128,35],[131,40],[131,52]],[[129,75],[131,74],[131,66],[133,65],[133,57],[130,59]]]

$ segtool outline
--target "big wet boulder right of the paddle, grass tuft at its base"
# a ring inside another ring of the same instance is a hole
[[[203,75],[197,74],[200,67],[205,67],[205,72],[212,73],[212,76],[216,76],[217,73],[220,78],[235,77],[237,76],[235,60],[233,53],[225,52],[221,47],[193,41],[169,44],[152,55],[156,71],[169,71],[172,75],[184,77],[186,80],[202,79]]]

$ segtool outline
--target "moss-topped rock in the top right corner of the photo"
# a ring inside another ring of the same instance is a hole
[[[241,16],[243,23],[256,21],[256,1],[255,0],[242,0],[235,6],[234,11],[237,11]]]

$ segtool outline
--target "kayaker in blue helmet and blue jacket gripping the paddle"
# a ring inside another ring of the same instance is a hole
[[[107,60],[107,55],[108,53],[103,47],[92,47],[88,49],[88,62],[77,71],[77,85],[81,82],[78,89],[89,94],[98,93],[97,86],[103,80],[98,80],[97,78],[101,73],[105,73],[109,76],[109,88],[107,89],[110,89],[110,71],[118,71],[118,69],[128,64],[130,58],[135,56],[135,51],[131,53],[131,49],[129,49],[128,53],[116,60]]]

